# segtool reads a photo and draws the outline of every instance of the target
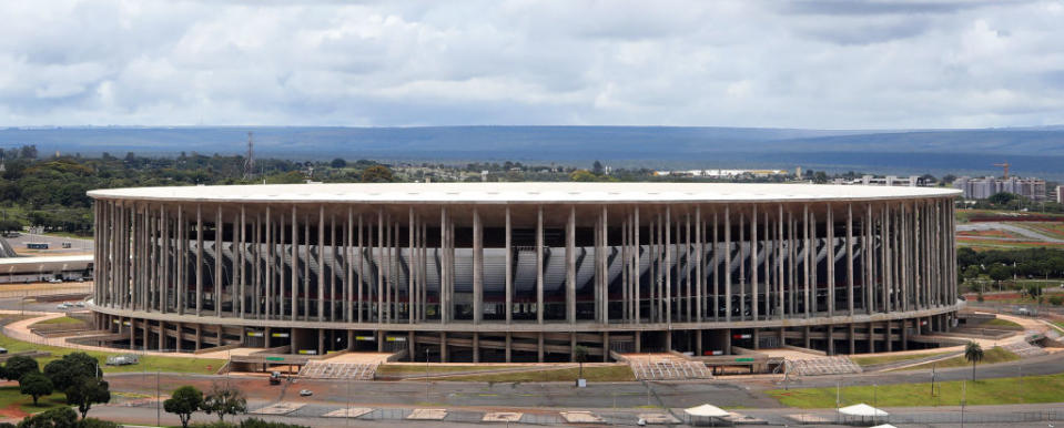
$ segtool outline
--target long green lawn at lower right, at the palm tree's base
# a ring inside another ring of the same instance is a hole
[[[966,384],[965,399],[969,406],[1058,402],[1061,391],[1064,390],[1064,374],[996,378],[975,383],[971,380],[935,383],[935,396],[931,396],[931,384],[926,383],[878,386],[874,387],[874,397],[871,386],[851,386],[842,388],[839,395],[842,406],[859,402],[876,407],[960,406],[962,383]],[[835,407],[835,388],[830,387],[773,389],[766,394],[790,407]]]

